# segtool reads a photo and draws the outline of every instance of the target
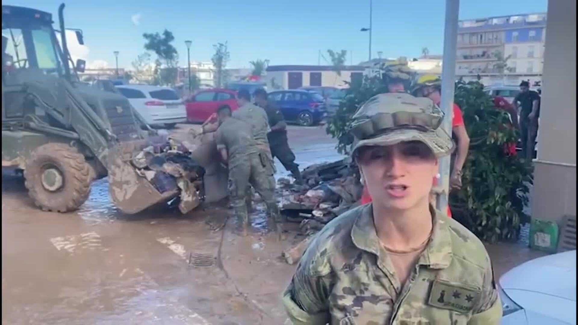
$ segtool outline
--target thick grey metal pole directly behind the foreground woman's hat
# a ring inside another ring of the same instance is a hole
[[[455,47],[458,39],[458,13],[460,0],[446,0],[446,22],[443,36],[442,61],[442,102],[440,108],[444,112],[443,129],[451,135],[451,120],[453,119],[454,79],[455,79]],[[443,193],[438,195],[437,208],[445,212],[450,193],[450,156],[440,158],[439,175]]]

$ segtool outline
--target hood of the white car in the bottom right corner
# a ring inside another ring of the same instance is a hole
[[[576,250],[518,265],[506,272],[499,282],[506,293],[523,290],[576,301]]]

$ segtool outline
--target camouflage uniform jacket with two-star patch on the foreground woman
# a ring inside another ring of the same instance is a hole
[[[498,324],[502,305],[483,244],[432,209],[431,239],[403,287],[372,205],[335,218],[298,265],[283,304],[294,324]]]

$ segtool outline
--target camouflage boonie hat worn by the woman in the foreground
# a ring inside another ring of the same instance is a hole
[[[405,93],[379,94],[352,117],[353,152],[363,146],[391,146],[399,142],[425,143],[436,157],[446,156],[454,143],[440,125],[443,112],[431,99]]]

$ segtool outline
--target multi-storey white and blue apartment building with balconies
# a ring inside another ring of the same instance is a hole
[[[542,81],[546,13],[462,20],[456,76],[487,85]]]

